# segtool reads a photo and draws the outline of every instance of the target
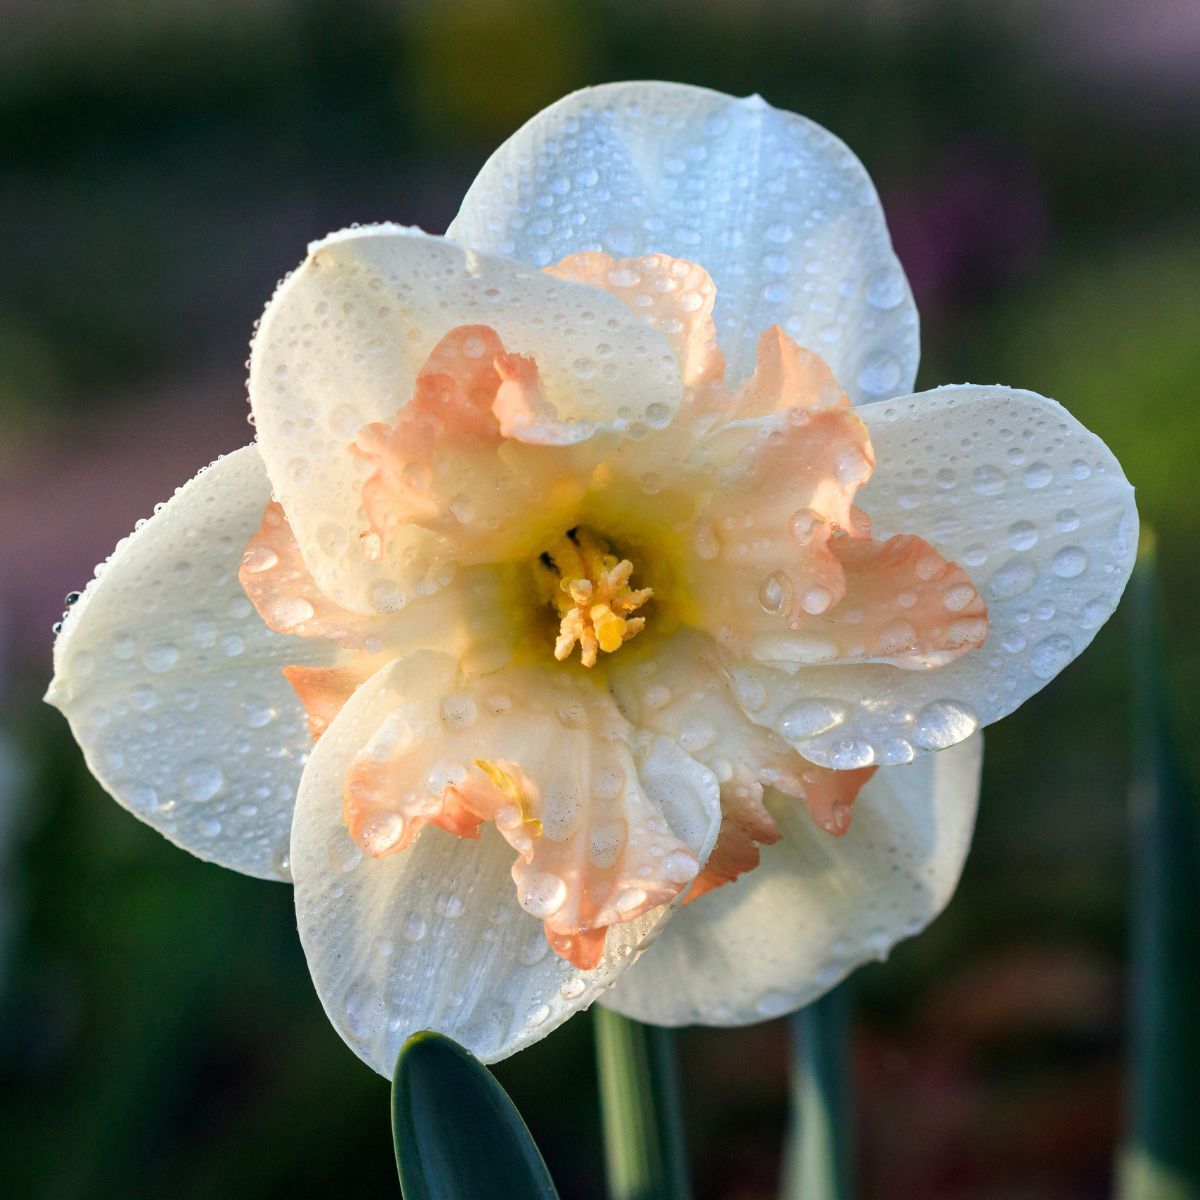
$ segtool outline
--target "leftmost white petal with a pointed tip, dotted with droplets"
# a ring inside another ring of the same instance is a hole
[[[238,582],[270,491],[248,445],[122,540],[67,617],[46,698],[131,812],[200,858],[286,880],[311,739],[280,670],[331,643],[272,632]]]

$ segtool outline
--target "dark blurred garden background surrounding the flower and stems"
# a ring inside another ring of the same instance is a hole
[[[444,229],[487,154],[576,86],[758,91],[856,149],[917,293],[919,385],[1055,396],[1138,486],[1194,782],[1198,67],[1192,0],[0,2],[5,1193],[394,1194],[386,1084],[326,1025],[288,890],[106,799],[40,703],[50,625],[250,437],[251,325],[305,242]],[[866,1200],[1111,1193],[1129,655],[1118,616],[990,731],[956,899],[853,980]],[[680,1048],[698,1200],[772,1195],[785,1026]],[[498,1074],[565,1200],[601,1196],[589,1018]]]

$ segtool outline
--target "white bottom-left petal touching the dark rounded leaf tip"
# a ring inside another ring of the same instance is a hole
[[[361,853],[342,817],[354,755],[398,703],[439,706],[455,671],[449,655],[424,652],[359,688],[317,743],[296,802],[292,862],[308,967],[334,1026],[388,1076],[419,1030],[485,1062],[536,1042],[610,986],[670,916],[661,907],[611,926],[600,966],[578,971],[517,904],[515,852],[492,826],[478,841],[426,829],[390,857]],[[638,778],[703,860],[719,824],[712,774],[659,739]]]

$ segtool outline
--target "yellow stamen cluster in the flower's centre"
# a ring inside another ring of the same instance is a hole
[[[587,529],[571,529],[541,556],[548,599],[559,616],[554,658],[570,658],[576,646],[586,667],[595,666],[600,650],[612,654],[646,628],[632,617],[654,595],[652,588],[631,588],[634,564],[610,553]]]

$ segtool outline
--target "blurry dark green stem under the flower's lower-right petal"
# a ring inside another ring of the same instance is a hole
[[[784,1200],[848,1200],[850,998],[841,984],[791,1019],[792,1116]]]

